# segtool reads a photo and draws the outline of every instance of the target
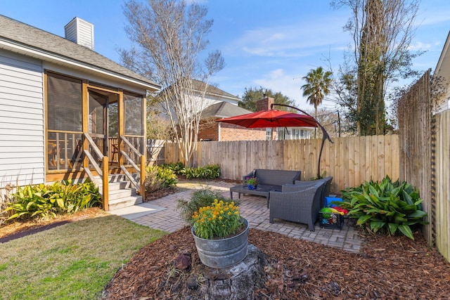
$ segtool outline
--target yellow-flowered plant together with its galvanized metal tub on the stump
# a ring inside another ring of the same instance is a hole
[[[200,261],[212,268],[226,268],[247,256],[248,221],[234,202],[214,200],[193,216],[192,235]]]

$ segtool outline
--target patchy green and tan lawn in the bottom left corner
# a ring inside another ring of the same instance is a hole
[[[0,299],[99,299],[124,263],[165,234],[108,215],[0,244]]]

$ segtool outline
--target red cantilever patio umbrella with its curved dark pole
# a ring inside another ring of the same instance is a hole
[[[294,112],[285,112],[283,110],[274,110],[274,105],[285,106],[293,108],[294,110],[298,110],[302,112],[304,115],[296,114]],[[229,117],[224,119],[217,119],[217,122],[226,122],[231,124],[236,124],[240,126],[244,126],[247,128],[267,128],[267,127],[320,127],[323,133],[322,136],[322,144],[321,150],[319,152],[319,164],[317,168],[317,178],[320,178],[320,170],[321,170],[321,156],[323,150],[323,143],[328,139],[330,143],[331,141],[328,132],[326,132],[325,128],[317,122],[314,117],[309,115],[307,112],[300,110],[297,107],[293,107],[285,104],[272,104],[270,110],[261,110],[259,112],[251,112],[250,114],[239,115],[236,117]]]

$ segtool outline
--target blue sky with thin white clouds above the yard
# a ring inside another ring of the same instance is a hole
[[[342,63],[352,39],[342,27],[350,14],[328,0],[202,0],[214,19],[209,50],[219,50],[226,66],[212,79],[219,89],[243,96],[245,88],[280,91],[311,110],[302,98],[302,77],[311,68]],[[61,37],[64,25],[79,17],[94,24],[94,50],[119,62],[127,48],[122,0],[0,0],[0,13]],[[416,70],[432,71],[450,30],[450,2],[422,0],[412,47],[427,51],[413,60]],[[409,83],[409,82],[406,82]],[[333,108],[333,103],[324,103]]]

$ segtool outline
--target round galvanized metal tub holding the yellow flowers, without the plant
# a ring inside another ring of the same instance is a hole
[[[212,268],[227,268],[240,263],[247,256],[248,221],[243,219],[245,230],[236,236],[223,240],[205,240],[198,237],[191,228],[200,261]]]

